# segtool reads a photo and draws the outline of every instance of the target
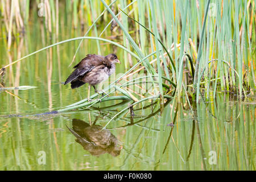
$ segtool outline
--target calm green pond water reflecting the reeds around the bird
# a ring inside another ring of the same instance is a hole
[[[10,52],[2,32],[1,67],[58,41],[54,36],[50,39],[42,27],[28,30],[23,38],[14,40]],[[62,27],[59,41],[80,33]],[[129,102],[108,101],[87,110],[32,116],[87,96],[87,86],[71,90],[69,85],[61,84],[72,72],[68,65],[78,44],[61,44],[6,69],[6,87],[38,88],[0,92],[1,170],[255,170],[255,98],[230,101],[228,94],[217,93],[216,99],[201,101],[193,109],[177,104],[175,98],[165,100],[162,114],[158,100],[138,104],[133,119],[127,110],[105,131],[118,143],[115,155],[110,147],[93,152],[97,143],[83,147],[68,127],[72,128],[73,119],[89,125],[97,120],[96,125],[104,127]],[[98,53],[95,45],[95,40],[85,40],[73,65],[87,53]],[[102,55],[113,52],[109,44],[100,47]],[[122,61],[123,51],[117,49],[117,55]],[[115,74],[123,72],[124,65],[117,65]]]

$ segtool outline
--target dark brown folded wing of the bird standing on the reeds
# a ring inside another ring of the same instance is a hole
[[[76,68],[71,75],[67,78],[64,85],[68,84],[69,82],[76,80],[79,76],[84,76],[95,67],[98,67],[99,65],[103,64],[103,56],[99,55],[87,55],[84,59],[80,61],[79,64],[75,65],[74,68]]]

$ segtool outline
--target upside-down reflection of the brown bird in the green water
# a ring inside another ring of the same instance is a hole
[[[96,118],[97,121],[97,118]],[[95,156],[108,153],[113,156],[118,156],[122,150],[122,146],[118,144],[118,139],[110,133],[109,130],[102,130],[99,125],[89,125],[80,119],[72,119],[72,127],[68,130],[75,135],[76,142],[84,147],[84,150]]]

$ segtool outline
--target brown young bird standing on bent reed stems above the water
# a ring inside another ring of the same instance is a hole
[[[121,64],[117,55],[114,55],[114,53],[110,53],[107,56],[88,54],[73,67],[75,70],[69,75],[64,85],[71,83],[71,88],[75,89],[88,83],[87,98],[88,101],[92,101],[90,100],[90,86],[93,86],[94,91],[98,93],[96,85],[107,80],[115,72],[115,63]]]

